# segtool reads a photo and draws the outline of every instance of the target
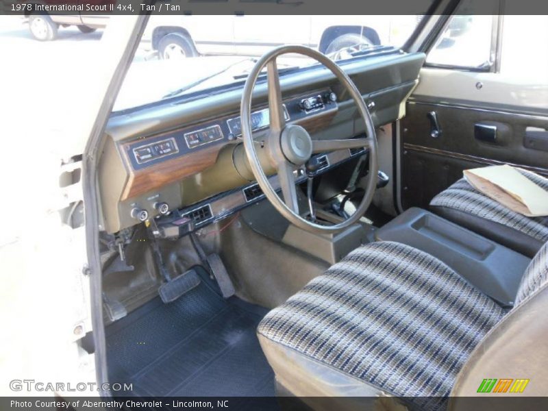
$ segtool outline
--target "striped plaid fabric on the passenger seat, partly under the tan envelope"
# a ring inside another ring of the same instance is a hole
[[[520,173],[529,178],[532,182],[548,191],[548,179],[538,174],[517,169]],[[440,192],[430,202],[433,210],[436,208],[449,208],[459,212],[477,216],[481,219],[499,223],[505,227],[515,229],[538,242],[548,241],[548,219],[545,217],[527,217],[514,212],[501,203],[487,197],[471,186],[466,179],[462,178],[455,184]],[[464,223],[457,221],[457,223]],[[466,224],[464,224],[466,225]],[[468,227],[474,229],[474,227]],[[481,232],[485,236],[488,233]],[[539,246],[540,247],[540,246]],[[538,249],[538,248],[537,248]],[[536,250],[531,254],[531,256]]]

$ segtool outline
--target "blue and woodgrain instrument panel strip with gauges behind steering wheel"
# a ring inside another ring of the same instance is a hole
[[[314,108],[304,107],[304,102],[309,99],[316,101]],[[336,95],[331,90],[322,90],[289,99],[284,107],[288,123],[300,124],[312,133],[322,124],[320,119],[325,122],[336,114]],[[251,119],[253,132],[268,128],[269,109],[254,110]],[[309,119],[316,121],[312,123],[307,121]],[[225,116],[158,136],[122,143],[120,148],[129,163],[127,168],[130,173],[122,199],[142,195],[207,168],[216,161],[221,148],[237,144],[240,137],[240,116]]]

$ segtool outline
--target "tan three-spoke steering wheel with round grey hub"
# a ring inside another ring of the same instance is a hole
[[[282,105],[282,92],[279,86],[279,75],[277,71],[276,58],[287,53],[297,53],[313,58],[327,67],[337,79],[345,86],[352,99],[358,106],[358,111],[365,122],[366,138],[352,138],[347,140],[312,140],[310,134],[299,125],[286,124],[284,107]],[[279,186],[282,188],[282,199],[277,195],[276,190],[269,182],[268,177],[262,169],[253,143],[251,127],[251,98],[258,76],[266,66],[270,131],[264,142],[266,158],[277,171]],[[240,108],[242,119],[242,138],[244,149],[249,161],[251,172],[255,176],[262,192],[272,203],[274,208],[282,214],[290,223],[301,229],[315,233],[340,232],[356,223],[366,212],[371,204],[377,183],[377,138],[375,126],[371,114],[367,109],[362,95],[356,85],[340,67],[319,51],[303,46],[282,46],[277,47],[264,54],[249,73],[245,82]],[[299,214],[299,203],[297,199],[296,177],[294,171],[301,168],[313,153],[325,153],[341,149],[365,148],[369,149],[369,174],[367,175],[367,188],[360,206],[348,219],[335,225],[320,225],[314,221],[308,221]]]

